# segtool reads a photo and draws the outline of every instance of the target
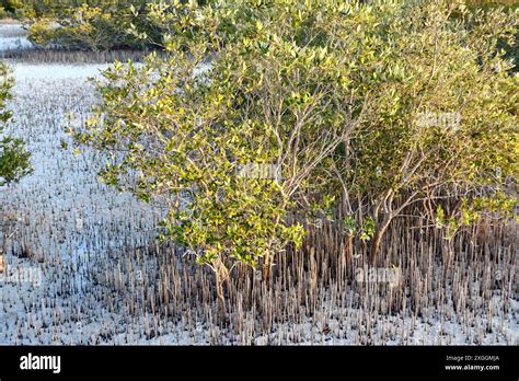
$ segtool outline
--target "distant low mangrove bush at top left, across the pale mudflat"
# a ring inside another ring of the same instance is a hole
[[[174,7],[178,1],[168,1]],[[204,3],[204,1],[199,1]],[[28,38],[44,47],[80,50],[158,48],[166,38],[164,2],[146,0],[32,1],[23,7]]]

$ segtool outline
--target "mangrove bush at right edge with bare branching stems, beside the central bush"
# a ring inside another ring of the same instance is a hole
[[[378,7],[371,51],[362,45],[376,58],[360,64],[353,100],[371,94],[372,107],[335,155],[347,199],[361,199],[357,208],[384,229],[422,198],[514,193],[518,77],[501,46],[515,44],[517,11],[474,13],[454,1],[384,14]],[[460,223],[474,220],[458,211]]]

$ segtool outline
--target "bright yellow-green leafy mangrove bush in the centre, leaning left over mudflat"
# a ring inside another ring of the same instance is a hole
[[[358,123],[343,105],[359,47],[321,24],[365,21],[343,20],[334,2],[170,8],[151,12],[174,36],[170,56],[107,70],[99,116],[77,141],[114,152],[108,184],[170,205],[164,238],[193,247],[199,263],[268,268],[287,244],[301,244],[289,216],[326,187],[323,160]],[[360,39],[360,31],[344,33]],[[279,168],[280,178],[238,171],[250,163]],[[323,207],[333,201],[325,195]]]

